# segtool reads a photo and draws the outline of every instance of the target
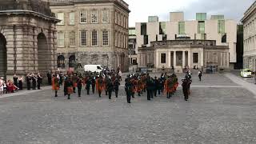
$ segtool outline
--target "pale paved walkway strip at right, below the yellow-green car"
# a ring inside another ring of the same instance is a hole
[[[226,73],[225,76],[227,78],[230,78],[230,80],[233,81],[234,83],[237,83],[238,85],[244,87],[246,90],[249,90],[251,93],[254,94],[254,98],[256,98],[256,89],[255,89],[254,84],[246,82],[246,81],[242,80],[241,78],[238,78],[234,74]]]

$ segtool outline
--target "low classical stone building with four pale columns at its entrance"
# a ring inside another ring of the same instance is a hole
[[[138,48],[138,66],[148,65],[158,70],[174,66],[176,72],[182,72],[185,66],[218,66],[229,70],[229,46],[216,46],[213,40],[190,38],[151,42],[148,47]]]

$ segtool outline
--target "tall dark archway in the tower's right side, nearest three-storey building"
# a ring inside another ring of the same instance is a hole
[[[38,71],[40,73],[50,70],[50,50],[46,40],[46,35],[38,34]]]

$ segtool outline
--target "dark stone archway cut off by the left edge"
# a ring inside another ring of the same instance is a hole
[[[7,71],[7,54],[6,54],[6,38],[0,33],[0,77],[6,79]]]

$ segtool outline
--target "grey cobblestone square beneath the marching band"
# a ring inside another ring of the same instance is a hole
[[[105,94],[54,98],[50,87],[0,98],[1,144],[256,143],[254,94],[224,74],[193,77],[189,102],[173,98],[126,103]],[[153,75],[152,75],[153,76]],[[182,75],[178,75],[182,78]]]

